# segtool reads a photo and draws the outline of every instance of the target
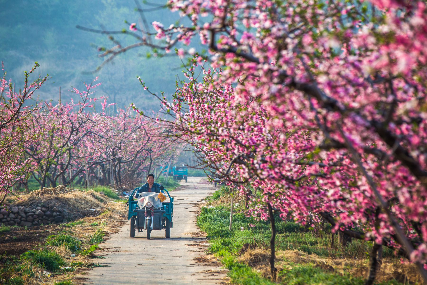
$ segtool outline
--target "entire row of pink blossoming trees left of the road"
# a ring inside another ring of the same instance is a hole
[[[111,104],[93,96],[100,84],[96,80],[84,91],[73,88],[78,100],[31,100],[46,80],[29,83],[35,68],[26,73],[19,91],[6,73],[1,79],[0,201],[19,188],[28,190],[31,179],[40,188],[133,187],[169,159],[170,141],[161,137],[164,127],[129,109],[108,115]]]

